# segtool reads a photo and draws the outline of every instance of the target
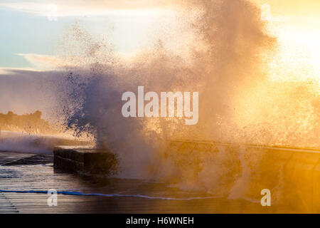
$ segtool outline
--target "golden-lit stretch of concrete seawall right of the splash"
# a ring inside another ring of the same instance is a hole
[[[197,180],[204,167],[212,165],[230,199],[260,201],[260,191],[269,189],[273,204],[320,212],[319,150],[176,140],[171,141],[166,157],[174,161],[181,178]],[[193,177],[184,173],[186,161]]]

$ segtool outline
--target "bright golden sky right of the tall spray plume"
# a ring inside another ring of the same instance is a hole
[[[319,83],[320,1],[252,1],[258,6],[270,5],[268,32],[278,41],[270,79]]]

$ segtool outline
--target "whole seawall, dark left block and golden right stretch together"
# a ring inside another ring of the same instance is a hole
[[[260,202],[261,190],[268,189],[273,205],[320,212],[319,150],[175,140],[164,155],[175,167],[173,181],[201,185],[203,172],[214,170],[213,190],[228,199]],[[117,165],[116,155],[109,151],[83,146],[54,149],[55,169],[110,174]]]

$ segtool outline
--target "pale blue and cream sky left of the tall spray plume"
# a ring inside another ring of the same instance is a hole
[[[54,56],[71,24],[111,39],[116,51],[132,53],[146,41],[156,20],[169,20],[163,4],[150,1],[0,2],[0,68],[37,68],[34,55]],[[56,11],[55,11],[56,9]],[[55,13],[56,12],[56,13]],[[112,31],[112,33],[110,32]]]

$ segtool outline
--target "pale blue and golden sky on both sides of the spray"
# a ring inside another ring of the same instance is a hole
[[[319,0],[251,1],[257,6],[270,5],[270,20],[273,25],[277,24],[273,32],[280,41],[290,40],[298,46],[305,43],[305,48],[311,51],[311,61],[319,58],[319,54],[316,55],[319,45],[315,46],[320,38]],[[161,20],[163,26],[170,26],[174,16],[168,9],[174,2],[1,0],[0,68],[4,71],[6,68],[43,70],[48,67],[38,60],[41,56],[46,60],[57,55],[63,34],[74,23],[81,24],[97,36],[108,36],[115,51],[134,53],[151,40],[155,27],[159,26],[157,21]]]

